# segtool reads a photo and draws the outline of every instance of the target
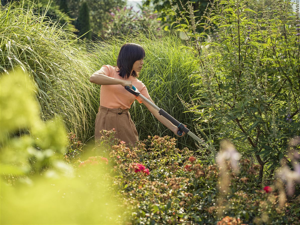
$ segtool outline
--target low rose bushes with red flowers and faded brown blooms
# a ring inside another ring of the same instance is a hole
[[[105,136],[113,137],[111,132]],[[265,188],[258,184],[259,164],[241,159],[238,171],[223,158],[221,167],[205,165],[192,151],[175,146],[174,138],[155,136],[134,148],[121,142],[111,149],[94,149],[106,152],[113,165],[117,196],[126,209],[123,216],[131,224],[299,222],[298,204],[286,202],[279,180]],[[222,151],[229,154],[224,146]]]

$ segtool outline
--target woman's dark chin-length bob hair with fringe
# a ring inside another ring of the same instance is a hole
[[[131,75],[133,64],[137,60],[141,60],[145,57],[145,50],[139,44],[127,43],[124,44],[119,52],[117,59],[117,66],[119,67],[119,75],[127,78]],[[132,71],[132,76],[138,77],[136,71]]]

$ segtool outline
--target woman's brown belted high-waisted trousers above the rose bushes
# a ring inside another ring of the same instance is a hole
[[[126,144],[134,145],[139,140],[137,129],[131,120],[128,109],[109,109],[100,106],[95,121],[95,140],[102,136],[100,131],[110,131],[113,128],[116,129],[115,138],[125,141]]]

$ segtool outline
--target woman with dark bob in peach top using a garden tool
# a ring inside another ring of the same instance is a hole
[[[142,46],[134,43],[124,44],[118,55],[117,67],[104,65],[91,75],[90,82],[101,85],[100,107],[95,121],[95,140],[102,136],[101,130],[113,128],[116,130],[115,138],[127,144],[134,145],[139,140],[137,129],[128,111],[135,99],[145,104],[149,111],[176,136],[184,135],[184,133],[182,136],[177,135],[176,126],[159,115],[158,111],[142,98],[136,97],[124,88],[125,86],[132,88],[134,85],[143,96],[152,101],[146,86],[137,79],[144,64],[144,57],[145,50]]]

